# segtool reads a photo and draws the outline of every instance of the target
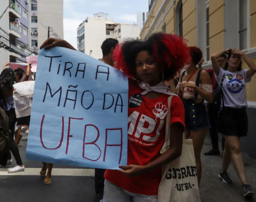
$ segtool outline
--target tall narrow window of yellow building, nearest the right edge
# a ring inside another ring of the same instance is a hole
[[[239,0],[239,49],[247,49],[247,0]]]

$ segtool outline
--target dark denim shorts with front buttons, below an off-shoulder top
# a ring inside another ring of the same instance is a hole
[[[210,128],[208,112],[203,102],[195,103],[194,99],[182,99],[185,109],[187,131],[198,131]]]

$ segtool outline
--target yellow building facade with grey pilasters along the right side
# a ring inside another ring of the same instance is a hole
[[[183,36],[189,46],[199,47],[203,68],[210,56],[226,48],[243,50],[256,63],[256,0],[149,0],[141,39],[154,32]],[[243,68],[248,66],[243,62]],[[249,107],[256,107],[256,76],[247,83]]]

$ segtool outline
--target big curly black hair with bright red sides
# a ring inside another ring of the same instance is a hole
[[[139,52],[147,51],[158,62],[164,80],[173,78],[190,60],[186,41],[175,34],[155,33],[147,40],[128,39],[119,43],[113,54],[116,68],[133,79],[136,79],[135,60]]]

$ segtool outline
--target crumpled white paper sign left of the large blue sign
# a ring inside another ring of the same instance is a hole
[[[35,81],[23,81],[13,85],[16,89],[13,91],[13,101],[17,118],[31,115],[34,85]]]

